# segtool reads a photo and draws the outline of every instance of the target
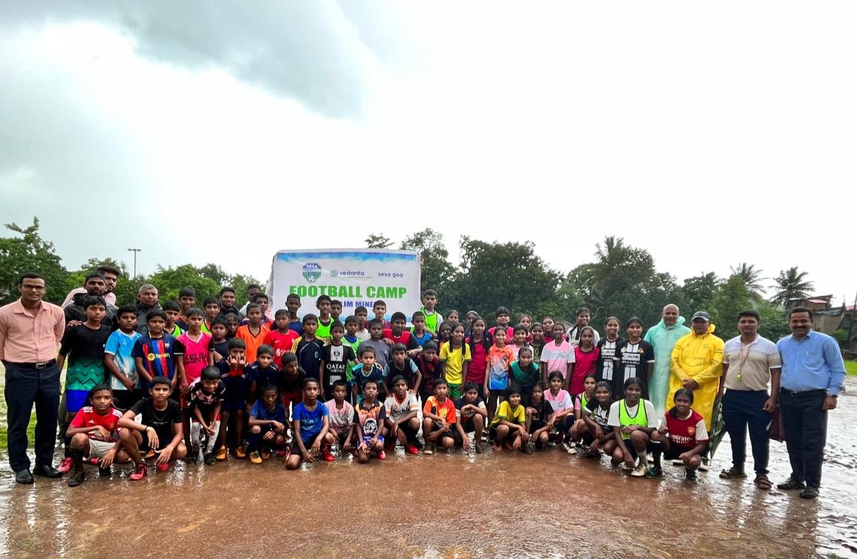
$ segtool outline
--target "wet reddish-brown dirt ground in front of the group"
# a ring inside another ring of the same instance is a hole
[[[287,472],[179,462],[129,482],[15,485],[3,456],[0,557],[857,557],[857,380],[830,413],[821,497],[725,481],[634,479],[560,449],[340,460]],[[748,443],[749,454],[749,443]],[[752,461],[747,469],[752,470]],[[788,477],[771,443],[770,478]]]

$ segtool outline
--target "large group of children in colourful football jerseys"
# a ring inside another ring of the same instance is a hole
[[[261,464],[277,455],[296,469],[335,461],[334,450],[364,463],[385,460],[397,443],[412,455],[456,445],[481,454],[490,443],[495,452],[558,444],[581,456],[603,452],[635,477],[660,476],[666,455],[695,476],[704,420],[690,390],[656,417],[645,399],[653,356],[638,319],[626,323],[624,340],[613,317],[599,338],[586,309],[566,330],[528,315],[510,326],[500,307],[488,329],[476,312],[444,319],[436,304],[429,289],[409,328],[402,312],[385,320],[383,301],[371,320],[357,307],[341,321],[341,303],[326,295],[315,301],[318,314],[298,318],[301,300],[290,294],[269,318],[258,294],[242,321],[214,298],[196,308],[183,289],[179,303],[149,310],[146,324],[137,307],[120,307],[111,331],[105,301],[87,296],[86,321],[69,326],[58,358],[69,365],[59,469],[79,485],[86,461],[105,475],[132,461],[137,480],[147,459],[163,471],[179,459],[210,466],[231,452]]]

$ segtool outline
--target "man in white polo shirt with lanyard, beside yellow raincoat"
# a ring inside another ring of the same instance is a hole
[[[720,394],[723,421],[732,443],[732,467],[723,470],[720,477],[746,477],[744,460],[749,427],[753,469],[756,471],[753,483],[759,489],[767,490],[771,487],[768,479],[768,425],[780,391],[782,359],[776,343],[758,335],[758,326],[758,312],[739,312],[738,330],[741,335],[726,342],[723,349]]]

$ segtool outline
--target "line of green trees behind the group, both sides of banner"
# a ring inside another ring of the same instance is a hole
[[[219,265],[191,264],[158,266],[147,276],[129,277],[128,267],[116,259],[89,259],[75,271],[67,270],[51,241],[39,235],[39,220],[22,228],[8,223],[11,235],[0,237],[0,304],[17,297],[18,276],[38,271],[47,280],[46,299],[61,302],[70,289],[80,287],[88,271],[99,265],[111,265],[123,271],[117,283],[120,302],[135,300],[137,288],[152,283],[162,300],[177,298],[183,287],[194,288],[197,299],[217,294],[221,286],[236,289],[242,305],[247,286],[259,283],[254,277],[229,274]],[[396,248],[384,235],[369,235],[367,247]],[[487,242],[463,235],[458,241],[460,262],[452,265],[443,235],[423,229],[405,236],[401,250],[422,255],[423,288],[435,288],[440,294],[442,311],[475,310],[489,319],[498,306],[507,306],[513,316],[528,313],[534,318],[553,316],[573,320],[581,306],[592,313],[596,328],[609,316],[623,322],[632,316],[644,324],[656,324],[663,306],[675,303],[687,315],[697,310],[710,312],[717,334],[737,336],[738,312],[755,308],[762,316],[762,336],[776,340],[788,334],[784,306],[788,301],[810,294],[812,282],[797,267],[780,271],[770,278],[773,295],[764,295],[764,271],[749,263],[732,267],[727,276],[703,272],[679,282],[668,272],[658,271],[648,250],[632,247],[623,238],[607,236],[596,244],[591,262],[563,273],[548,266],[536,254],[532,242]],[[273,301],[276,306],[276,301]],[[398,310],[398,309],[393,309]],[[403,309],[410,311],[411,309]]]

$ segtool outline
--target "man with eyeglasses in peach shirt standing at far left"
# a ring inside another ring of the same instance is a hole
[[[9,424],[9,466],[15,481],[32,484],[33,474],[59,478],[53,467],[57,438],[59,374],[57,346],[63,338],[63,309],[46,302],[45,278],[21,276],[21,299],[0,307],[0,360],[6,368],[6,408]],[[27,425],[36,405],[36,466],[30,473]]]

